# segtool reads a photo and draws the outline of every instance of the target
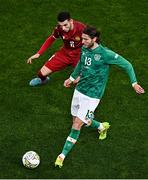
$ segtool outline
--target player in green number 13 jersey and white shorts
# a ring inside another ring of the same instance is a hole
[[[78,140],[81,127],[84,124],[96,128],[99,132],[99,139],[106,138],[109,123],[96,121],[93,114],[103,96],[111,64],[123,68],[127,72],[134,90],[138,94],[144,93],[144,89],[137,83],[131,63],[100,44],[100,32],[87,26],[82,34],[82,42],[80,61],[70,78],[64,82],[65,87],[70,87],[80,76],[71,104],[72,129],[61,154],[55,161],[55,166],[59,167],[63,166],[63,161]]]

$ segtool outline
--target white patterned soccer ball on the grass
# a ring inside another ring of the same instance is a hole
[[[34,151],[26,152],[22,157],[23,165],[29,169],[34,169],[40,164],[40,157]]]

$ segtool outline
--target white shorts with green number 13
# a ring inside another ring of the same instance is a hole
[[[90,122],[88,117],[91,119],[99,102],[100,99],[88,97],[75,89],[71,103],[71,114],[88,124]]]

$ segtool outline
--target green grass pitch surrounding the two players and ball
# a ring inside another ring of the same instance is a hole
[[[62,169],[54,168],[71,128],[74,87],[63,82],[72,68],[55,73],[42,87],[29,81],[60,47],[58,40],[33,65],[26,64],[56,25],[59,11],[102,31],[103,44],[134,66],[146,93],[138,96],[127,75],[112,66],[96,119],[109,121],[108,138],[83,128]],[[147,0],[0,0],[0,178],[144,179],[148,178],[148,1]],[[22,166],[34,150],[41,164]]]

